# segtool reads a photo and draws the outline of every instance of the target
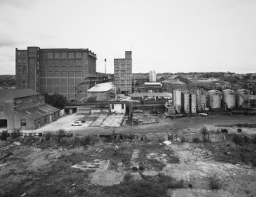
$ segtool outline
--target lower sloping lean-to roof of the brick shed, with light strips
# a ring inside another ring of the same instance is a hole
[[[56,111],[60,111],[60,109],[54,108],[51,105],[43,104],[34,106],[32,108],[23,109],[18,112],[27,116],[28,118],[31,118],[32,120],[37,120],[39,118],[43,118],[44,116],[51,115]]]

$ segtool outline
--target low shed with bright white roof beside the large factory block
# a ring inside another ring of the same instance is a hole
[[[108,101],[115,99],[116,92],[115,86],[112,82],[99,83],[87,90],[88,96],[95,96],[96,101]]]

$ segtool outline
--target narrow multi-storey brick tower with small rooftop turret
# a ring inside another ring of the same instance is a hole
[[[115,86],[118,93],[132,92],[131,51],[125,51],[125,58],[114,59]]]

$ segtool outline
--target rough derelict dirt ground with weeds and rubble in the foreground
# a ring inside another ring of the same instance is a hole
[[[256,196],[255,144],[0,141],[0,153],[0,196]]]

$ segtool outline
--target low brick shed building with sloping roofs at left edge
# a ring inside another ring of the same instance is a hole
[[[47,105],[32,89],[0,89],[0,130],[35,129],[60,118],[60,109]]]

